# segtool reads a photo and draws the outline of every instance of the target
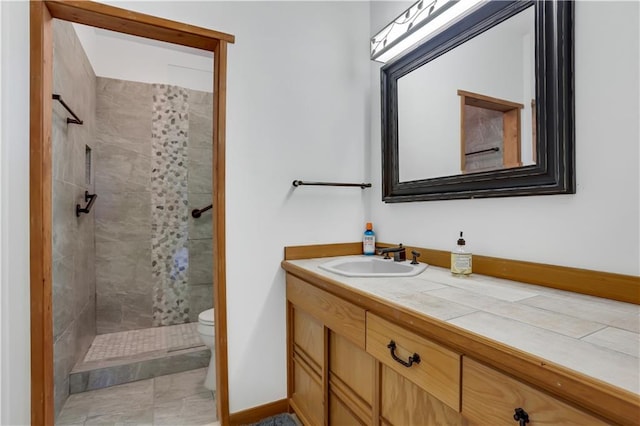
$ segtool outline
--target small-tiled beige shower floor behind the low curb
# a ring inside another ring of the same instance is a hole
[[[95,337],[83,362],[131,357],[158,351],[201,346],[197,323],[101,334]]]

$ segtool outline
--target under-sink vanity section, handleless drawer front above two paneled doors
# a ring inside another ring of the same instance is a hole
[[[287,274],[289,401],[305,425],[372,424],[364,309]]]

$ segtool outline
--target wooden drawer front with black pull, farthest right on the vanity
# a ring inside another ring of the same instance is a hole
[[[509,425],[522,408],[531,425],[603,425],[601,420],[571,407],[491,367],[467,357],[462,368],[462,415],[470,424]]]

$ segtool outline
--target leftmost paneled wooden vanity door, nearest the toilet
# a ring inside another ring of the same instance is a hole
[[[304,424],[324,424],[324,327],[320,321],[290,307],[291,342],[290,389],[291,405]]]

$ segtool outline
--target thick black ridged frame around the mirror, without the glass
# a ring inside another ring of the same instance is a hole
[[[536,164],[400,182],[398,79],[528,7],[535,7]],[[573,14],[571,1],[491,1],[382,67],[382,200],[575,194]]]

